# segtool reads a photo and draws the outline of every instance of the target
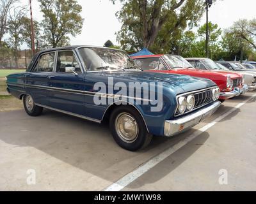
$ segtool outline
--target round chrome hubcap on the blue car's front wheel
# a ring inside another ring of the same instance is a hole
[[[116,133],[124,142],[132,143],[138,138],[138,124],[129,113],[120,113],[116,117],[115,128]]]

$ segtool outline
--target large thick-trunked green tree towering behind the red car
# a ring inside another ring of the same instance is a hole
[[[172,39],[180,36],[187,25],[196,24],[204,13],[202,0],[119,1],[123,7],[116,16],[122,28],[117,40],[129,50],[142,47],[169,50]]]

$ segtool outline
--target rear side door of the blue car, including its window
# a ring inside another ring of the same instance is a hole
[[[54,69],[56,52],[47,52],[40,55],[31,72],[24,75],[26,79],[26,92],[28,92],[38,105],[49,105],[48,78]]]

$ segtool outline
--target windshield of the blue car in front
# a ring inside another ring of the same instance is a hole
[[[83,58],[88,71],[140,70],[137,64],[121,50],[99,47],[83,47],[79,48],[79,54]]]

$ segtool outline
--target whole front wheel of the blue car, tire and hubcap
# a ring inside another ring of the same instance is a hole
[[[109,127],[116,143],[126,150],[143,149],[152,140],[140,113],[131,106],[119,106],[113,110]]]

